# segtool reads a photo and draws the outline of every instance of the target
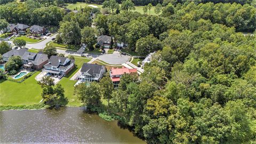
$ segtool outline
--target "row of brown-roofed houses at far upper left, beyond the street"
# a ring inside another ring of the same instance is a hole
[[[31,34],[35,34],[35,35],[44,35],[46,33],[46,29],[44,27],[37,26],[37,25],[33,25],[30,27],[28,25],[24,25],[21,23],[17,23],[17,25],[9,24],[7,28],[2,30],[2,33],[8,32],[8,33],[13,33],[14,35],[18,35],[18,34],[25,35],[27,29],[30,30]]]

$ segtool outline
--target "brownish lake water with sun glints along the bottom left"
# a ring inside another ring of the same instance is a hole
[[[146,143],[80,107],[0,111],[0,143]]]

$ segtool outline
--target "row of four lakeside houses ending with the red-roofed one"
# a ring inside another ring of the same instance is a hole
[[[75,68],[75,60],[70,60],[66,57],[58,57],[52,55],[50,59],[42,52],[29,52],[27,48],[18,50],[11,50],[3,54],[3,60],[9,61],[10,57],[19,56],[23,62],[23,68],[27,70],[44,71],[49,76],[62,77],[67,75],[73,68]],[[83,63],[80,70],[80,75],[77,76],[79,82],[99,82],[106,73],[106,67],[98,64]],[[137,73],[137,69],[112,68],[110,69],[110,78],[114,87],[118,87],[120,78],[123,74]]]

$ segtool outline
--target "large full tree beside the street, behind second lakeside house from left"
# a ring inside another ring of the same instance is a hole
[[[64,21],[60,23],[60,37],[65,44],[81,43],[81,28],[75,21]]]

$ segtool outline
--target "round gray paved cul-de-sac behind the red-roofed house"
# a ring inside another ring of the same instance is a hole
[[[122,65],[122,63],[129,61],[130,57],[115,51],[113,54],[100,55],[98,59],[112,65]]]

